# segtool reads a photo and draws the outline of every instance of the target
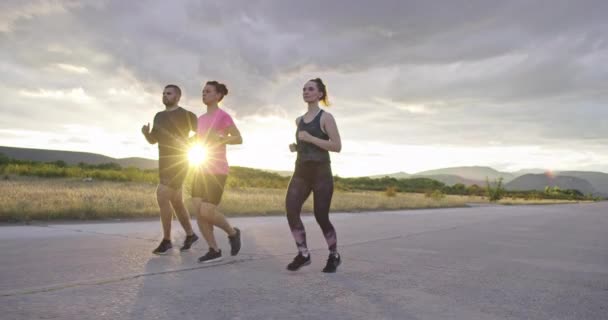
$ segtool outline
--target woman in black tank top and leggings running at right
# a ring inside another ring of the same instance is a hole
[[[319,107],[319,101],[325,106],[328,105],[327,88],[323,81],[319,78],[308,81],[304,85],[302,96],[308,103],[308,112],[296,120],[296,143],[291,144],[289,149],[298,155],[285,197],[287,221],[298,248],[298,255],[287,265],[287,269],[296,271],[310,264],[306,231],[300,213],[302,205],[312,192],[315,219],[329,248],[329,258],[323,272],[336,272],[341,258],[337,250],[336,230],[329,221],[329,208],[334,192],[329,152],[340,152],[342,143],[333,116]]]

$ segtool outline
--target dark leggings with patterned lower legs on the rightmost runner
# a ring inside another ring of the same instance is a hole
[[[313,193],[315,219],[331,253],[336,253],[337,237],[334,226],[329,221],[329,207],[334,193],[334,179],[329,163],[303,162],[296,164],[296,169],[289,182],[285,197],[287,221],[301,254],[307,255],[306,231],[300,218],[302,205]]]

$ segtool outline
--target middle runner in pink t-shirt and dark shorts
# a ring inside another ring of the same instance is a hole
[[[198,208],[198,226],[209,245],[209,251],[198,259],[203,263],[222,259],[222,251],[213,235],[214,226],[228,234],[231,255],[236,255],[241,249],[240,230],[233,228],[217,210],[228,176],[226,145],[243,143],[232,117],[218,106],[227,94],[228,89],[224,84],[217,81],[207,82],[203,88],[203,103],[207,106],[207,112],[198,118],[197,137],[207,150],[207,158],[195,174],[192,198],[195,208]]]

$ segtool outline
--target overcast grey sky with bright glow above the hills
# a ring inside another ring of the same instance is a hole
[[[608,171],[607,1],[17,1],[0,4],[0,145],[157,157],[162,88],[290,170],[304,83],[343,137],[334,173],[461,165]]]

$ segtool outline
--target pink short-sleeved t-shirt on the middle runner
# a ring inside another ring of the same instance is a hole
[[[228,128],[234,125],[232,117],[222,109],[212,113],[205,113],[198,117],[196,133],[201,141],[206,141],[209,132],[225,136]],[[226,145],[214,147],[207,146],[207,161],[203,164],[203,172],[209,174],[228,174],[228,160],[226,159]]]

